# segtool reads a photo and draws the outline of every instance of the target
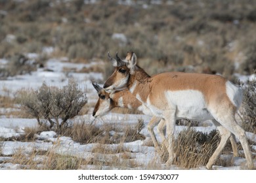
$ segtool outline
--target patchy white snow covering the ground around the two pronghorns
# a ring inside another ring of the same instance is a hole
[[[129,1],[127,1],[129,3]],[[125,35],[114,34],[114,39],[120,39],[123,42],[126,42],[127,39]],[[46,54],[53,52],[53,48],[45,47],[43,52]],[[30,59],[35,59],[38,57],[37,54],[27,54]],[[7,63],[6,59],[0,59],[1,65]],[[37,89],[41,86],[43,82],[46,82],[50,86],[62,87],[67,84],[68,78],[74,78],[79,87],[87,91],[87,97],[89,103],[95,103],[97,99],[97,94],[91,84],[91,80],[103,80],[101,73],[75,73],[74,71],[79,71],[84,67],[91,67],[92,65],[100,64],[100,62],[91,62],[91,63],[70,63],[68,58],[51,58],[47,61],[45,68],[37,69],[37,71],[32,72],[30,75],[17,75],[7,78],[7,80],[1,80],[0,82],[0,95],[13,96],[15,92],[24,88],[24,89]],[[70,71],[64,73],[63,70],[69,68]],[[242,81],[255,79],[255,75],[251,76],[241,76]],[[9,91],[9,92],[7,92]],[[91,106],[90,110],[92,110]],[[19,110],[17,108],[0,108],[0,112],[4,114],[5,112],[10,112],[12,110]],[[150,121],[151,116],[146,116],[142,114],[115,114],[109,113],[101,118],[93,118],[93,116],[88,113],[83,116],[77,116],[72,120],[73,123],[85,122],[86,124],[95,124],[97,127],[104,127],[105,125],[115,125],[119,129],[124,127],[135,126],[137,125],[138,120],[143,120],[144,128],[140,133],[146,137],[145,140],[133,141],[133,142],[123,142],[122,144],[80,144],[75,142],[71,137],[61,137],[57,135],[54,131],[42,131],[41,133],[35,135],[35,141],[32,142],[20,142],[20,141],[1,141],[0,148],[3,157],[0,157],[0,169],[22,169],[24,165],[18,165],[13,163],[2,163],[11,159],[11,157],[18,150],[22,150],[24,154],[30,154],[34,150],[52,150],[58,154],[68,154],[72,156],[77,156],[79,158],[88,159],[92,158],[98,159],[98,161],[112,161],[114,158],[118,158],[118,161],[135,161],[138,164],[138,167],[116,167],[109,165],[83,165],[81,169],[145,169],[152,164],[158,164],[159,167],[163,169],[180,169],[179,167],[172,165],[171,167],[165,167],[164,163],[161,162],[159,154],[156,152],[155,148],[152,146],[146,146],[146,142],[150,141],[150,134],[148,133],[147,125]],[[0,138],[11,138],[11,137],[20,137],[24,134],[25,127],[37,127],[37,120],[28,119],[28,118],[7,118],[5,115],[0,116]],[[175,137],[188,127],[177,125],[175,129]],[[196,131],[202,131],[203,133],[210,133],[215,126],[211,122],[204,122],[200,126],[192,127]],[[160,136],[156,127],[154,128],[156,138],[161,142]],[[110,136],[115,134],[124,135],[124,132],[120,131],[110,131]],[[250,141],[256,142],[256,135],[253,133],[247,132],[247,137]],[[238,139],[236,139],[238,141]],[[110,148],[116,150],[120,145],[127,149],[129,152],[121,152],[116,154],[100,154],[94,152],[95,148],[98,146],[102,148]],[[256,150],[256,146],[251,146],[252,150]],[[129,153],[129,158],[123,159],[125,153]],[[241,151],[241,153],[243,153]],[[37,159],[43,159],[45,156],[37,156]],[[232,154],[223,154],[221,159],[232,159]],[[233,158],[234,166],[232,167],[222,167],[222,166],[213,166],[213,169],[219,170],[232,170],[232,169],[243,169],[245,164],[245,158]],[[7,161],[8,162],[8,161]],[[255,162],[256,163],[256,162]],[[40,167],[42,165],[38,165]],[[197,167],[196,169],[205,169],[205,166]]]

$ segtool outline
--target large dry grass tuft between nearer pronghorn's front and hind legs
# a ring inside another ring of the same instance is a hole
[[[220,141],[219,133],[211,131],[206,134],[188,129],[181,131],[173,143],[176,158],[174,164],[182,169],[192,169],[206,165],[213,152],[216,150]],[[167,161],[167,150],[162,150],[161,158]],[[224,149],[224,152],[230,153],[230,144]],[[232,166],[232,161],[219,160],[215,164]]]

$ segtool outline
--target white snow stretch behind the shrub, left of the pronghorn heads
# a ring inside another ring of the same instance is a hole
[[[31,58],[35,58],[36,55],[29,54]],[[62,58],[65,60],[65,58]],[[4,60],[3,60],[4,61]],[[17,75],[9,77],[8,80],[1,80],[0,82],[0,95],[7,95],[6,88],[10,91],[17,91],[23,88],[37,89],[43,82],[46,82],[50,86],[62,87],[67,84],[68,78],[74,78],[81,88],[93,89],[91,85],[91,79],[102,80],[102,74],[100,73],[63,73],[63,69],[75,68],[82,69],[83,67],[90,67],[95,63],[68,63],[62,62],[60,59],[49,59],[47,62],[47,68],[51,71],[45,71],[45,69],[38,69],[27,75]]]

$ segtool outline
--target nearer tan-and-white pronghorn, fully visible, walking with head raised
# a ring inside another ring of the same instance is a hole
[[[150,108],[154,116],[166,122],[170,165],[173,162],[173,135],[175,120],[212,120],[219,130],[221,142],[206,167],[211,169],[233,133],[244,149],[248,169],[253,169],[245,131],[237,124],[234,115],[242,103],[242,89],[219,75],[197,73],[161,73],[149,76],[137,65],[137,57],[127,52],[125,60],[110,58],[114,73],[106,80],[106,92],[127,88],[141,103]]]

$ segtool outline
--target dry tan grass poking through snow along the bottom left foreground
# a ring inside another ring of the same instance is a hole
[[[94,158],[81,158],[69,154],[57,154],[58,144],[49,150],[32,150],[26,152],[25,148],[19,148],[9,159],[1,163],[18,165],[18,169],[45,169],[45,170],[75,170],[94,165],[95,169],[103,166],[119,169],[129,169],[140,165],[131,157],[131,151],[122,145],[116,149],[98,144],[93,148]],[[1,146],[0,146],[1,150]],[[102,157],[106,159],[102,159]]]

